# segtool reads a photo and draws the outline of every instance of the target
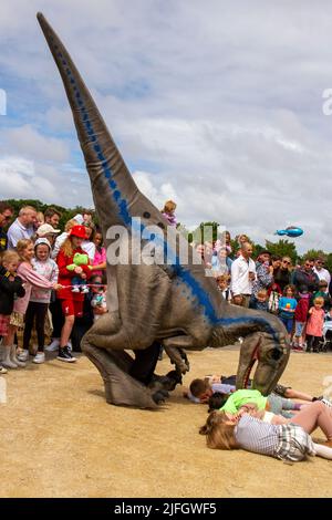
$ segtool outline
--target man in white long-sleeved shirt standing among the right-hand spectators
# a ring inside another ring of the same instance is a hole
[[[252,246],[242,242],[240,256],[231,264],[231,292],[236,305],[249,306],[252,283],[256,280],[256,264],[250,258]]]

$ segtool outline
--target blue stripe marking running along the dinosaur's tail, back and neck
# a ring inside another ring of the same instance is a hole
[[[63,58],[61,52],[58,53],[58,56],[61,58],[61,59]],[[66,62],[64,60],[62,60],[62,63],[64,65],[66,65]],[[117,207],[118,207],[118,215],[122,217],[122,219],[123,219],[123,221],[126,226],[133,226],[133,229],[135,230],[136,226],[133,225],[133,222],[132,222],[132,216],[128,211],[127,202],[126,202],[125,199],[122,198],[121,191],[118,189],[116,189],[117,188],[116,181],[111,178],[112,177],[112,170],[107,166],[106,158],[104,157],[104,155],[102,153],[101,145],[98,144],[98,142],[96,139],[96,135],[94,133],[93,125],[92,125],[91,121],[89,119],[89,115],[85,112],[86,108],[85,108],[85,106],[82,106],[83,102],[80,100],[81,98],[81,93],[79,91],[79,87],[76,86],[76,82],[75,82],[74,77],[72,76],[72,72],[69,67],[66,69],[65,72],[66,72],[68,75],[71,76],[70,83],[73,85],[73,91],[76,92],[75,97],[77,100],[77,104],[81,106],[80,112],[81,112],[81,115],[82,115],[82,121],[84,122],[85,128],[87,129],[90,141],[92,143],[95,143],[93,145],[93,149],[94,149],[94,152],[96,152],[98,160],[102,162],[102,168],[103,168],[104,175],[105,175],[105,177],[108,181],[108,186],[110,186],[110,188],[113,193],[113,198],[114,198],[114,200],[115,200],[115,202],[117,204]],[[139,228],[141,228],[139,229],[141,233],[146,229],[146,227],[143,223],[141,223]],[[247,322],[247,321],[248,321],[248,323],[249,322],[250,323],[256,322],[256,323],[259,323],[259,324],[263,324],[266,326],[266,330],[268,332],[272,333],[273,336],[274,336],[276,331],[273,331],[273,329],[271,327],[269,322],[267,320],[264,320],[263,318],[236,318],[236,319],[231,319],[231,318],[228,318],[228,319],[222,319],[221,318],[220,319],[220,318],[218,318],[217,314],[216,314],[215,308],[214,308],[214,305],[210,301],[210,298],[209,298],[208,293],[205,291],[205,289],[199,284],[199,282],[191,274],[191,272],[179,263],[179,258],[176,256],[176,253],[173,250],[170,250],[168,243],[164,239],[163,239],[163,246],[164,246],[164,251],[166,253],[166,258],[172,258],[174,260],[173,261],[173,267],[174,267],[177,275],[191,290],[191,294],[193,294],[191,301],[196,300],[197,303],[203,306],[206,316],[209,319],[209,321],[211,323],[214,323],[215,325],[230,325],[230,324],[235,324],[235,323],[243,323],[243,322]],[[188,299],[189,299],[189,297],[188,297]]]

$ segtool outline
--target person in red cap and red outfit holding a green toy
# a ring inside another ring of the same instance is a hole
[[[86,280],[91,270],[87,266],[75,267],[74,270],[68,270],[68,266],[73,263],[75,253],[84,254],[82,242],[86,238],[84,226],[74,226],[68,239],[64,241],[58,254],[59,267],[59,283],[64,285],[64,289],[58,291],[58,299],[61,300],[62,312],[64,315],[64,325],[61,331],[60,347],[58,360],[66,363],[76,361],[69,350],[69,340],[74,325],[75,318],[81,318],[83,314],[84,293],[72,291],[72,278],[81,277]]]

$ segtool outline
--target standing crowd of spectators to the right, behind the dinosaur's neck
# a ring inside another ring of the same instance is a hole
[[[294,351],[321,352],[326,344],[324,323],[332,325],[331,274],[324,259],[307,258],[301,266],[292,266],[289,257],[263,250],[255,261],[248,237],[237,237],[236,251],[228,231],[224,238],[196,249],[226,300],[278,315]]]

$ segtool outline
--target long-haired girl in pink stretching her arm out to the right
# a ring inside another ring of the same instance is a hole
[[[24,315],[28,309],[32,287],[39,289],[56,289],[56,283],[51,283],[46,278],[42,277],[38,272],[33,271],[32,259],[34,257],[34,249],[32,240],[23,239],[19,240],[17,245],[17,251],[20,257],[20,264],[18,268],[18,274],[24,282],[25,295],[14,302],[13,312],[10,316],[9,333],[6,337],[4,344],[7,349],[12,352],[11,361],[12,365],[10,368],[17,368],[17,366],[25,366],[25,361],[29,358],[29,351],[23,350],[18,357],[15,356],[15,346],[13,345],[14,335],[18,329],[24,326]]]

